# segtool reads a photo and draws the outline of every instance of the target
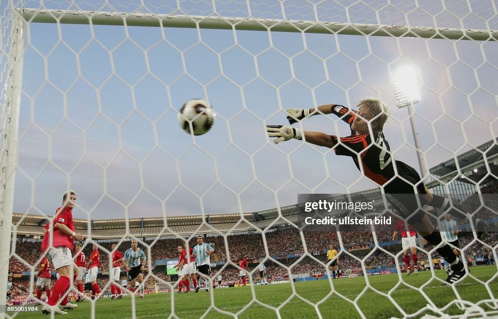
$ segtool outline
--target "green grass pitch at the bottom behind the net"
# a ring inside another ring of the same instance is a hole
[[[489,281],[497,272],[496,266],[472,267],[471,273],[478,279]],[[446,278],[443,270],[436,271],[436,276],[441,279]],[[431,276],[430,271],[419,274],[402,275],[403,282],[390,293],[392,299],[406,313],[413,314],[425,307],[429,302],[418,290],[410,288],[421,287],[423,292],[438,308],[443,308],[451,301],[457,299],[452,287],[442,286],[440,281]],[[394,306],[389,298],[377,293],[389,293],[398,284],[397,274],[369,276],[371,288],[365,289],[366,278],[341,278],[332,281],[317,280],[298,282],[294,284],[295,294],[291,284],[255,286],[254,294],[250,287],[234,287],[215,289],[212,294],[201,290],[199,293],[190,294],[170,293],[145,295],[144,299],[135,298],[136,318],[171,318],[172,304],[174,304],[173,315],[177,318],[199,318],[207,313],[209,319],[229,319],[233,318],[228,314],[218,312],[217,307],[222,312],[238,314],[238,318],[269,318],[277,319],[277,311],[282,319],[288,318],[318,318],[317,311],[324,319],[352,319],[362,318],[355,307],[355,304],[363,312],[366,318],[402,318],[402,313]],[[498,295],[498,278],[489,282],[489,290],[494,298]],[[376,290],[376,291],[375,291]],[[474,279],[467,277],[462,283],[456,286],[456,291],[462,300],[476,303],[485,299],[491,299],[487,287]],[[331,294],[332,292],[332,294]],[[360,294],[363,293],[361,297]],[[349,299],[341,298],[338,294]],[[172,298],[174,298],[172,300]],[[303,300],[304,299],[304,300]],[[213,300],[213,303],[212,303]],[[306,301],[305,301],[306,300]],[[355,303],[356,300],[356,303]],[[264,303],[273,309],[266,308],[260,303]],[[319,303],[318,307],[311,304]],[[243,312],[240,312],[244,307]],[[121,300],[101,299],[95,303],[95,319],[128,319],[131,315],[131,297],[127,296]],[[214,306],[214,307],[212,307]],[[482,305],[486,311],[492,309]],[[278,310],[276,310],[278,308]],[[449,315],[462,314],[456,305],[445,311]],[[90,319],[92,314],[92,303],[85,301],[78,304],[78,308],[70,311],[66,316],[57,318]],[[436,315],[433,312],[425,311],[415,318],[425,314]],[[13,314],[10,314],[11,316]],[[24,318],[49,318],[40,313],[19,313],[15,316],[18,319]],[[173,317],[174,318],[174,317]]]

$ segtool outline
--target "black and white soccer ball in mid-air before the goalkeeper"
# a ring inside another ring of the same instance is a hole
[[[196,98],[183,104],[178,122],[188,134],[203,135],[213,127],[215,113],[206,100]]]

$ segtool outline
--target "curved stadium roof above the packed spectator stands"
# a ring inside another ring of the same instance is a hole
[[[436,177],[427,184],[428,188],[435,187],[441,183],[454,180],[463,182],[481,182],[486,184],[494,176],[488,174],[486,164],[492,172],[498,171],[498,145],[495,141],[489,141],[471,151],[468,151],[455,159],[447,160],[430,169],[430,173]],[[462,177],[462,175],[464,177]],[[487,176],[486,176],[487,175]],[[486,178],[483,180],[483,177]],[[339,195],[343,196],[343,195]],[[352,197],[362,197],[365,201],[379,199],[381,197],[378,189],[370,189],[351,194]],[[381,201],[379,201],[381,202]],[[218,214],[203,216],[177,216],[167,217],[166,221],[159,218],[131,218],[115,220],[75,220],[76,229],[84,236],[91,230],[94,239],[122,238],[124,236],[134,237],[157,237],[157,236],[190,236],[192,234],[208,233],[230,233],[248,232],[266,227],[286,225],[288,222],[297,223],[298,213],[301,212],[297,205],[290,205],[278,209],[272,208],[260,212],[244,214]],[[43,236],[42,225],[47,220],[43,216],[13,214],[13,223],[17,225],[15,233],[21,236]],[[166,226],[164,225],[166,222]],[[249,223],[248,223],[249,222]],[[128,228],[128,231],[126,231]]]

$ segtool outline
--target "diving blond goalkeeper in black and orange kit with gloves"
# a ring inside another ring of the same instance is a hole
[[[438,246],[443,241],[441,234],[434,231],[434,225],[421,206],[427,204],[441,208],[463,220],[468,219],[468,214],[463,213],[462,208],[456,203],[451,205],[447,198],[430,193],[413,167],[392,158],[389,144],[382,132],[389,114],[384,103],[376,98],[366,98],[361,100],[357,107],[359,111],[338,104],[319,106],[317,112],[314,108],[287,110],[290,124],[310,115],[335,114],[350,126],[351,135],[348,137],[302,131],[281,125],[268,125],[266,131],[269,137],[276,138],[273,141],[275,144],[304,138],[308,143],[333,148],[336,155],[351,157],[358,169],[382,188],[387,200],[399,216],[413,226],[424,239]],[[480,237],[488,225],[476,219],[476,228],[482,230],[478,234]],[[451,265],[446,282],[454,284],[462,279],[466,273],[465,266],[452,248],[448,244],[443,244],[436,250]]]

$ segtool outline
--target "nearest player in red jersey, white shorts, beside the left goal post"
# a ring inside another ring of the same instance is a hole
[[[56,210],[53,222],[41,243],[42,252],[48,251],[48,259],[60,275],[47,304],[41,310],[46,315],[52,312],[54,314],[67,314],[57,306],[59,299],[61,299],[60,305],[63,309],[71,310],[77,307],[77,305],[68,302],[66,294],[72,282],[71,276],[78,275],[78,267],[73,262],[71,255],[74,239],[83,240],[83,235],[74,231],[73,208],[75,202],[76,194],[74,191],[70,190],[64,193],[62,196],[63,206]]]

